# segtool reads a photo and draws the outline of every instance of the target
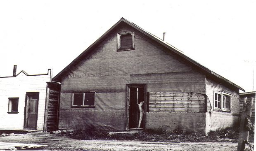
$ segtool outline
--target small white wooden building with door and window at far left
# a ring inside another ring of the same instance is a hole
[[[0,129],[43,130],[45,124],[46,82],[52,79],[52,69],[46,74],[0,77]]]

